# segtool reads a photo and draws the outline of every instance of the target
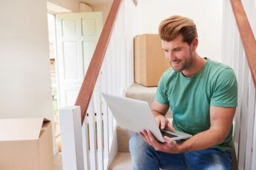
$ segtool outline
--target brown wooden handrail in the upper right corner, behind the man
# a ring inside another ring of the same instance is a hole
[[[241,0],[231,0],[231,6],[234,13],[234,17],[237,22],[237,27],[240,33],[240,37],[243,42],[243,48],[246,52],[246,58],[249,64],[250,71],[252,73],[252,79],[256,88],[256,42],[255,36],[252,32],[252,27],[247,19],[246,12],[243,8]]]

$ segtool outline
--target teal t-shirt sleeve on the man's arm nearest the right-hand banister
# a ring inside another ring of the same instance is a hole
[[[211,105],[218,107],[237,106],[237,79],[231,68],[226,69],[217,77]]]

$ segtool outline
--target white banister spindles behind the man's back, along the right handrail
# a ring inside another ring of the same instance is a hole
[[[256,33],[256,1],[242,1]],[[223,62],[237,76],[238,105],[234,118],[234,145],[238,169],[256,169],[256,92],[230,1],[223,1]],[[256,67],[256,65],[255,65]]]

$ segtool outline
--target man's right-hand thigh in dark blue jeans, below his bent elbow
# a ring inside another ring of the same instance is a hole
[[[184,154],[188,169],[231,169],[231,153],[208,148]]]

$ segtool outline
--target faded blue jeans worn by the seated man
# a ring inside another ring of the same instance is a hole
[[[182,154],[167,154],[155,149],[134,134],[129,140],[133,170],[155,169],[231,169],[231,152],[208,148]]]

